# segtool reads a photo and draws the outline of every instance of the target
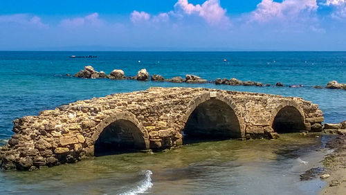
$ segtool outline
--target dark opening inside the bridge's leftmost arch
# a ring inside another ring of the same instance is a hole
[[[128,153],[145,149],[143,133],[129,120],[116,120],[103,129],[95,141],[94,156]]]

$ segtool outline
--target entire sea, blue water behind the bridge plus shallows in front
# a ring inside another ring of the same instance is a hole
[[[69,56],[97,56],[71,58]],[[224,62],[226,59],[226,62]],[[204,87],[303,97],[325,122],[346,120],[346,91],[315,89],[346,83],[346,52],[88,52],[0,51],[0,142],[12,120],[77,100],[161,87]],[[71,77],[84,66],[134,76],[146,68],[165,78],[237,78],[271,86],[138,82]],[[285,86],[278,87],[275,83]],[[290,85],[299,85],[290,88]],[[278,140],[214,140],[152,153],[118,154],[39,171],[1,171],[1,194],[316,194],[326,183],[300,175],[321,167],[333,136],[299,133]]]

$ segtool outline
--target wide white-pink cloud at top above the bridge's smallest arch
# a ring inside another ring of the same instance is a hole
[[[334,0],[337,1],[337,0]],[[284,0],[281,3],[273,0],[262,0],[251,13],[251,21],[271,21],[273,19],[299,19],[311,14],[318,8],[316,0]]]

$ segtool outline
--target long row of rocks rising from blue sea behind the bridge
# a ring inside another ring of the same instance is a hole
[[[74,77],[82,77],[82,78],[109,78],[111,80],[138,80],[138,81],[149,81],[152,80],[154,82],[174,82],[174,83],[198,83],[198,84],[202,84],[202,83],[207,83],[207,80],[203,80],[201,77],[197,76],[197,75],[185,75],[185,79],[182,77],[173,77],[171,79],[165,79],[162,75],[152,75],[152,77],[150,77],[149,73],[147,72],[147,70],[141,69],[140,71],[138,71],[137,75],[134,77],[129,77],[129,76],[125,76],[124,71],[122,70],[118,70],[115,69],[113,71],[111,71],[111,73],[109,73],[109,75],[107,75],[106,73],[104,73],[103,71],[95,71],[94,68],[92,66],[85,66],[84,70],[81,70],[80,72],[76,73],[74,75]],[[261,82],[255,82],[255,81],[245,81],[243,82],[242,80],[237,80],[236,78],[231,78],[230,80],[228,80],[227,78],[221,79],[221,78],[217,78],[214,81],[210,81],[210,83],[214,83],[214,84],[226,84],[226,85],[232,85],[232,86],[271,86],[271,84],[263,84]],[[284,84],[282,84],[282,82],[277,82],[274,86],[285,86]],[[303,87],[302,84],[297,84],[297,85],[289,85],[289,87],[291,88],[299,88],[299,87]],[[331,81],[327,84],[327,86],[323,87],[323,86],[313,86],[313,88],[315,89],[345,89],[346,90],[346,84],[343,83],[338,83],[336,81]]]

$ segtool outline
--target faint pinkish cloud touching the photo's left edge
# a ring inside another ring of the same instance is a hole
[[[40,17],[27,14],[0,15],[0,24],[17,24],[20,26],[33,26],[37,28],[48,27],[46,24],[42,23]]]

